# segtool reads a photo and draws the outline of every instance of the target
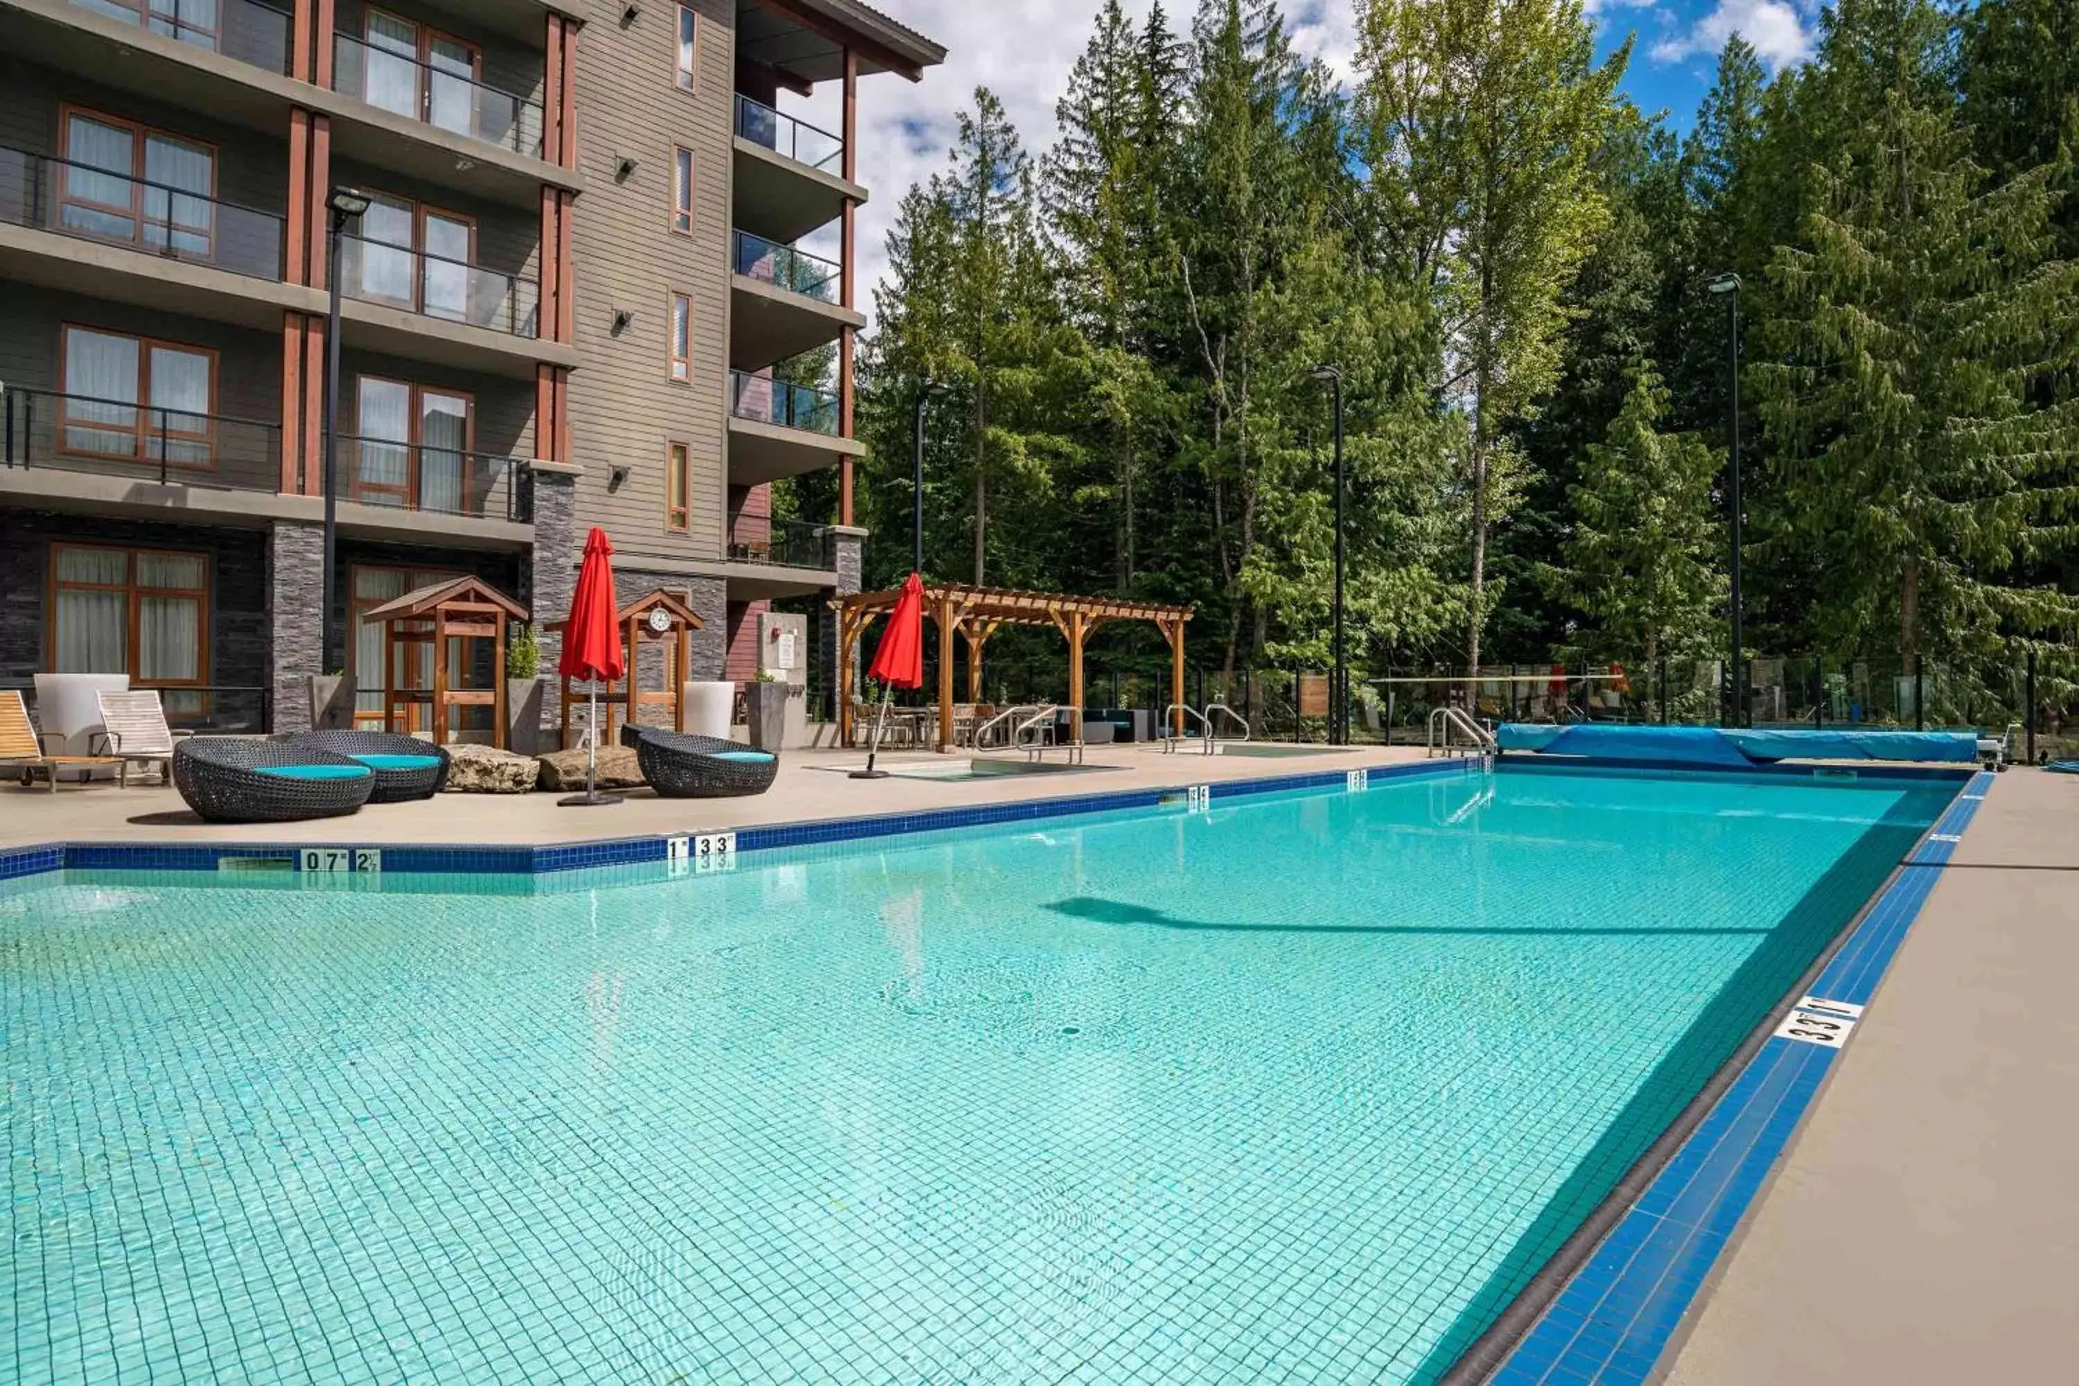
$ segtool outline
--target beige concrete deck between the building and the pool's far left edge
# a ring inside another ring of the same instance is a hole
[[[204,823],[170,785],[64,783],[56,794],[37,783],[0,785],[0,848],[48,842],[266,842],[266,844],[561,844],[653,833],[713,833],[767,823],[815,823],[975,804],[1006,804],[1119,790],[1187,788],[1229,779],[1312,775],[1424,758],[1414,746],[1316,746],[1316,754],[1162,754],[1154,744],[1091,746],[1081,773],[1002,775],[990,779],[848,779],[865,765],[859,750],[800,750],[780,758],[780,777],[751,798],[672,800],[630,790],[605,808],[559,808],[559,794],[441,794],[410,804],[368,804],[347,819],[308,823]],[[931,752],[884,754],[884,769],[938,767],[965,756]],[[1096,769],[1108,767],[1108,769]]]

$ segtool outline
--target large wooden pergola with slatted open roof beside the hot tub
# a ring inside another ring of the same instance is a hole
[[[852,744],[852,648],[867,625],[894,611],[900,590],[850,592],[832,601],[838,613],[838,738]],[[967,700],[981,702],[981,650],[1000,625],[1054,625],[1069,640],[1069,707],[1075,740],[1083,740],[1083,642],[1106,621],[1154,621],[1170,646],[1170,702],[1183,702],[1183,628],[1191,607],[1023,592],[1017,588],[927,586],[923,613],[938,625],[938,748],[952,750],[952,638],[967,642]],[[1177,715],[1181,734],[1183,715]]]

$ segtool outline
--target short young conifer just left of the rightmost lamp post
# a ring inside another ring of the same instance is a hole
[[[1694,434],[1659,432],[1667,389],[1649,364],[1630,378],[1607,441],[1586,449],[1565,567],[1547,580],[1588,617],[1580,648],[1651,677],[1659,661],[1717,644],[1726,574],[1711,486],[1721,457]]]

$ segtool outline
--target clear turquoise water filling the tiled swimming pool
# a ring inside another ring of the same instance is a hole
[[[12,1367],[1428,1382],[1952,792],[1453,773],[543,894],[0,887]]]

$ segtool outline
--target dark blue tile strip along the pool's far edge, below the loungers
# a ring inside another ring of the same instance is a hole
[[[1455,761],[1407,761],[1401,765],[1364,767],[1366,783],[1383,779],[1420,779],[1432,775],[1464,775],[1480,769],[1474,758]],[[1245,798],[1254,794],[1287,794],[1301,790],[1343,790],[1349,783],[1349,767],[1337,771],[1308,771],[1299,775],[1262,775],[1254,779],[1229,779],[1206,785],[1208,804]],[[933,808],[923,812],[873,815],[854,819],[813,819],[805,823],[767,823],[738,829],[711,829],[736,835],[736,852],[769,852],[778,848],[827,846],[840,842],[865,842],[909,833],[936,833],[960,827],[994,827],[1000,823],[1029,823],[1040,819],[1083,817],[1094,812],[1121,812],[1133,808],[1181,806],[1183,796],[1195,785],[1177,783],[1150,790],[1114,790],[1110,794],[1071,794],[1060,798],[1035,798],[1000,804],[969,804],[963,808]],[[699,829],[684,833],[647,833],[640,837],[603,837],[597,842],[563,842],[553,846],[528,844],[449,844],[410,846],[393,842],[58,842],[29,848],[0,850],[0,881],[42,875],[50,871],[216,871],[227,860],[281,860],[297,858],[310,848],[337,850],[380,850],[383,875],[551,875],[563,871],[590,871],[597,867],[632,867],[669,860],[672,837],[699,835]]]

